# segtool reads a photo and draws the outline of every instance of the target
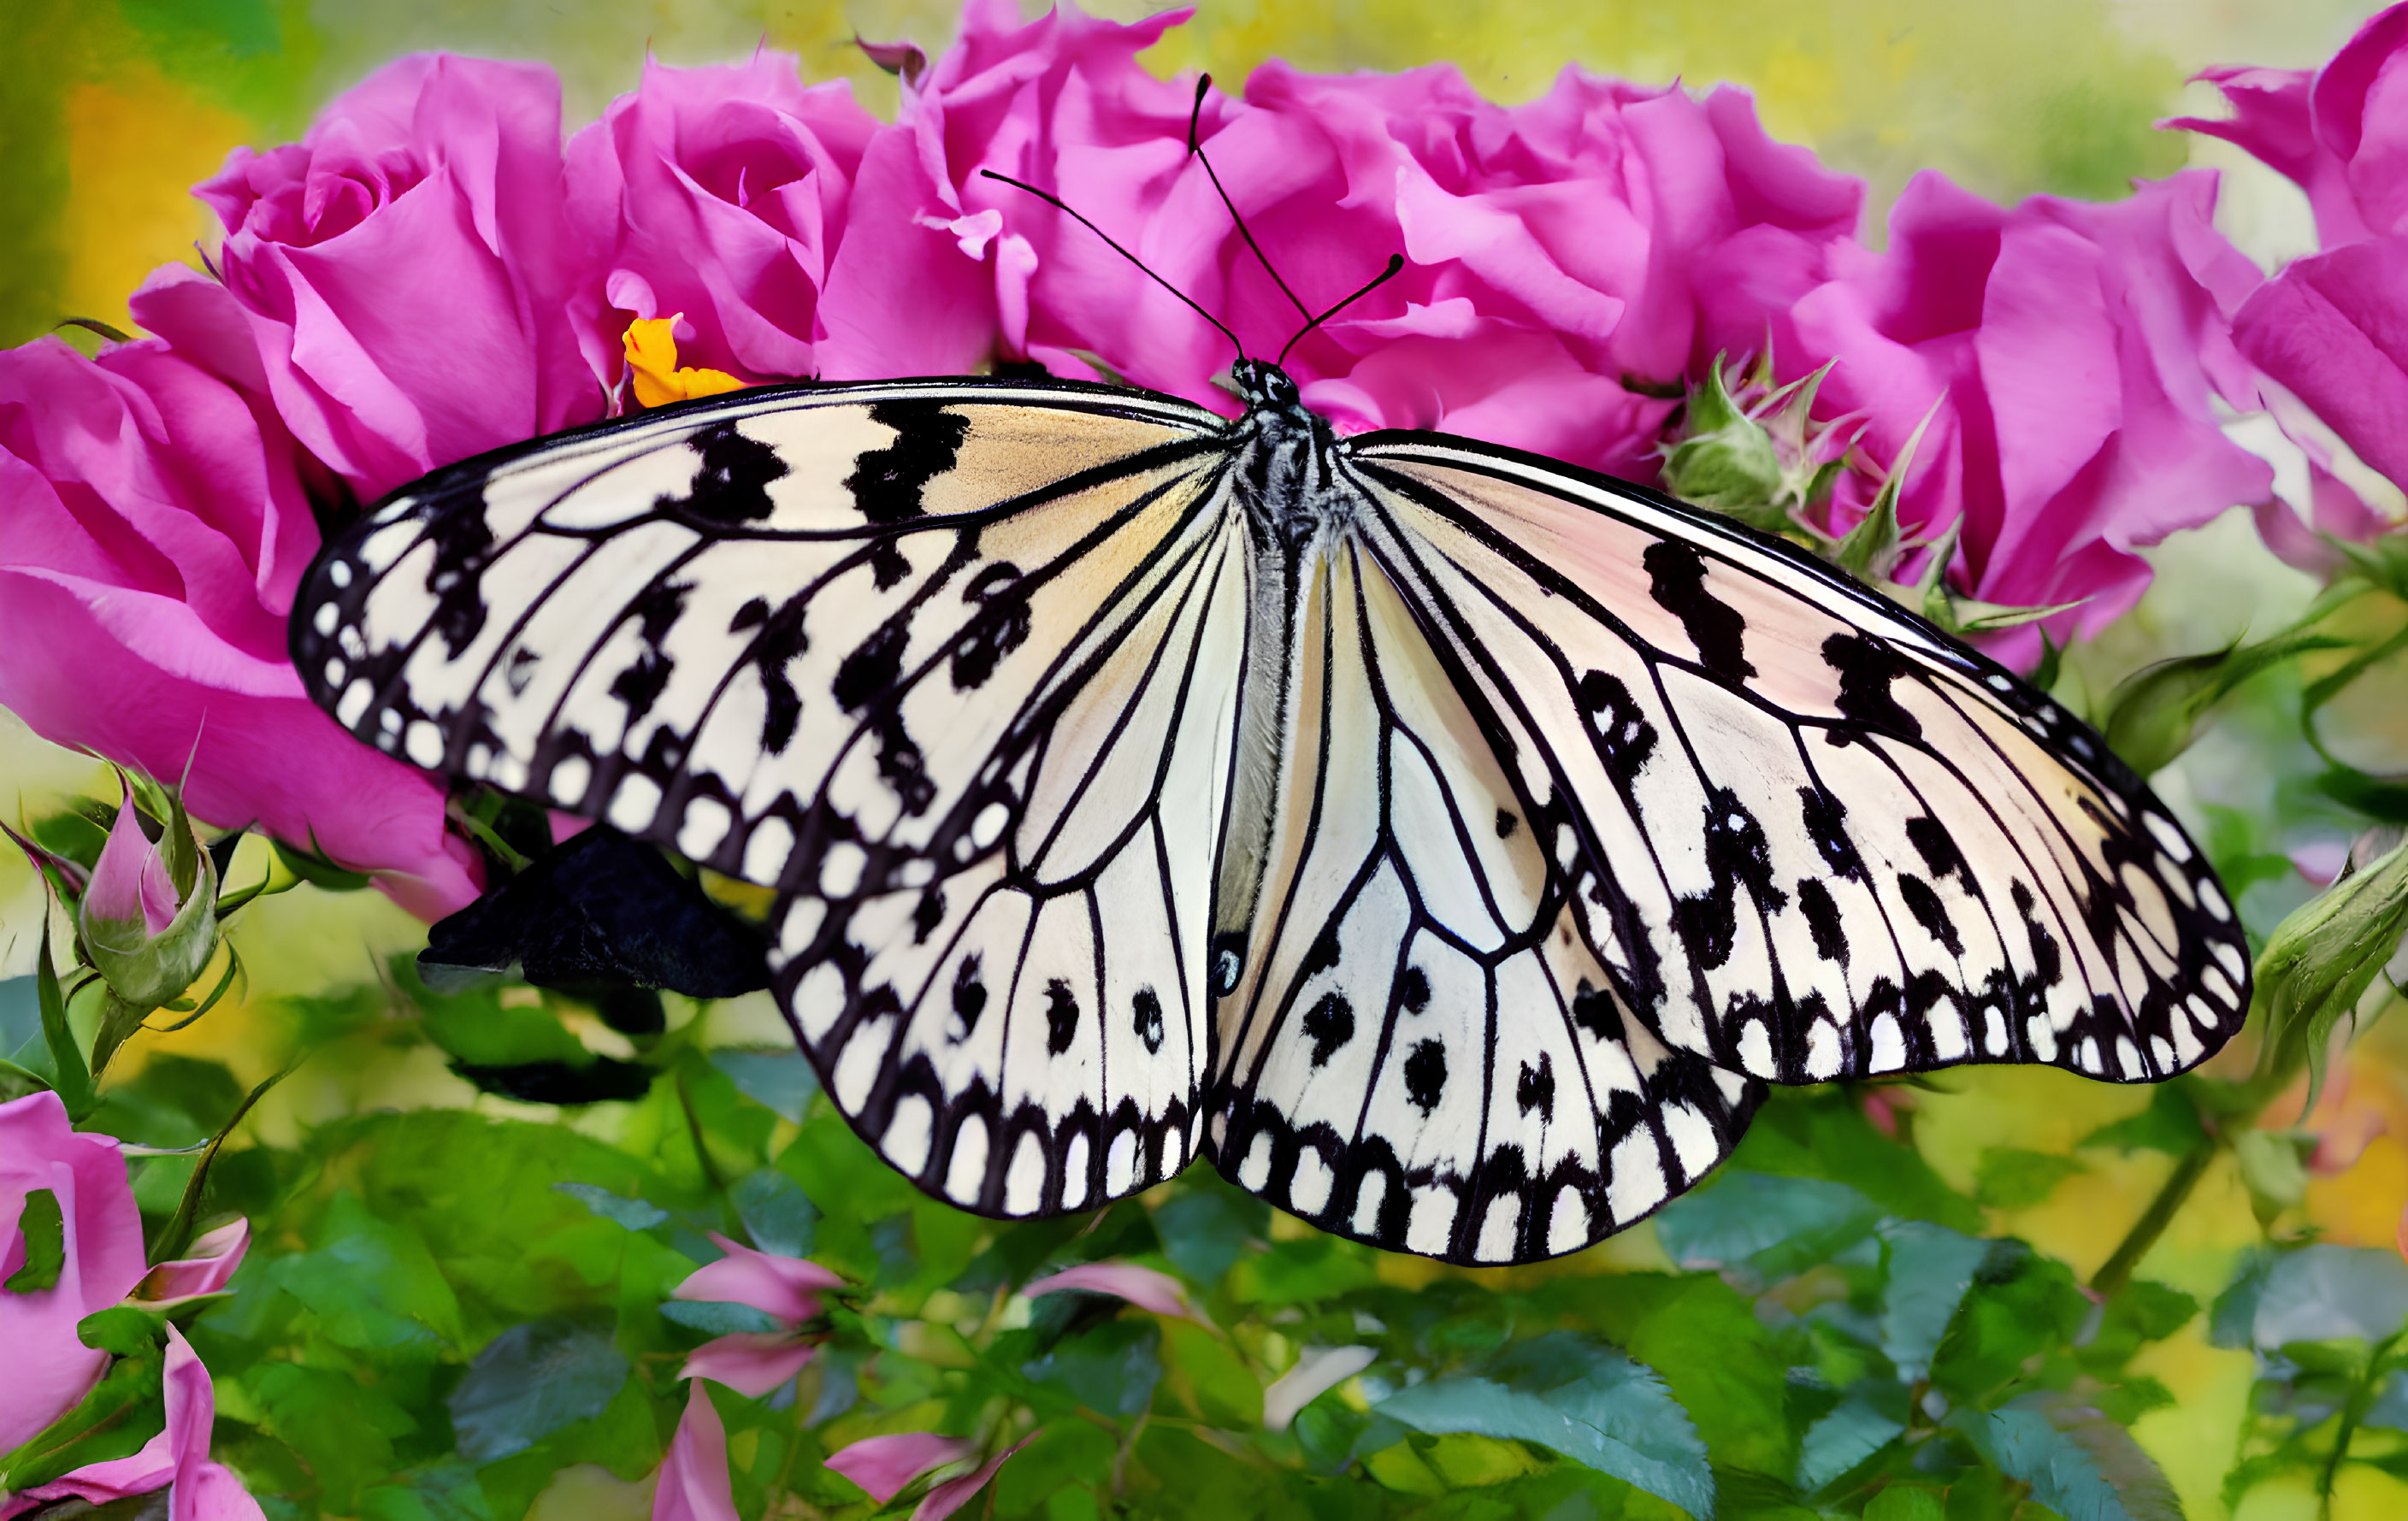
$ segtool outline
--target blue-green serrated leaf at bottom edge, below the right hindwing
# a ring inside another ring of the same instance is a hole
[[[1418,1432],[1539,1442],[1695,1516],[1714,1509],[1705,1442],[1664,1381],[1568,1331],[1517,1343],[1479,1372],[1413,1384],[1375,1410]]]

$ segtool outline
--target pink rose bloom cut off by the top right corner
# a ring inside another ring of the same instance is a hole
[[[2235,318],[2235,339],[2273,380],[2276,416],[2307,448],[2309,520],[2362,539],[2389,525],[2329,469],[2324,431],[2408,486],[2408,7],[2367,22],[2314,75],[2218,67],[2201,79],[2225,91],[2232,118],[2167,125],[2249,149],[2297,180],[2316,212],[2324,253],[2292,260],[2256,291]],[[2285,558],[2314,558],[2314,546],[2295,541],[2297,525],[2264,527]]]

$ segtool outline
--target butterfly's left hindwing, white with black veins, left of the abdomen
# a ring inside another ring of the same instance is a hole
[[[1197,517],[1072,650],[999,850],[913,890],[792,898],[773,987],[828,1095],[929,1194],[1098,1208],[1202,1146],[1211,859],[1245,638],[1243,539]]]

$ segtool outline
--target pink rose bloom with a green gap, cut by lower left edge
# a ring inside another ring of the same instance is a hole
[[[55,1093],[0,1105],[0,1283],[26,1266],[31,1232],[55,1230],[65,1251],[51,1288],[0,1288],[0,1451],[10,1451],[99,1381],[108,1353],[87,1348],[75,1324],[132,1292],[144,1263],[125,1155],[108,1136],[77,1134]]]

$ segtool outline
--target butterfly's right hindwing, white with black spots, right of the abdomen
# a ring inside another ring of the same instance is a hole
[[[1702,1177],[1760,1085],[1623,1016],[1568,907],[1560,806],[1500,763],[1515,720],[1377,549],[1339,544],[1300,594],[1269,874],[1218,1020],[1218,1162],[1380,1247],[1558,1256]]]

